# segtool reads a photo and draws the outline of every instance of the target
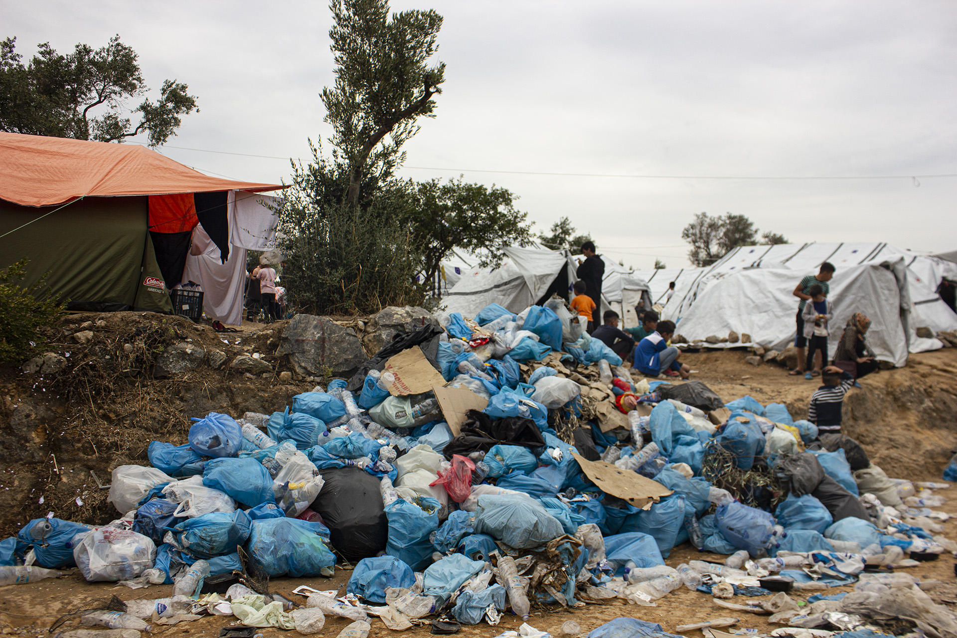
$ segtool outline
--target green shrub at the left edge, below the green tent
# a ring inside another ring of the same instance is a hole
[[[0,270],[0,361],[19,363],[30,358],[46,342],[44,328],[56,323],[63,304],[56,297],[40,301],[46,275],[28,288],[17,282],[26,278],[27,260]]]

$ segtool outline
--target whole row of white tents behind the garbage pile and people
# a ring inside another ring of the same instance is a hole
[[[577,269],[577,259],[568,251],[512,247],[502,251],[504,259],[496,269],[448,266],[446,270],[458,270],[456,283],[442,297],[448,312],[474,317],[495,302],[517,313],[554,293],[568,297]],[[625,326],[634,326],[637,306],[660,304],[662,319],[675,321],[689,341],[734,331],[750,335],[750,343],[783,349],[795,336],[797,299],[791,292],[825,261],[836,268],[829,297],[835,308],[832,355],[836,335],[857,312],[872,319],[868,342],[879,360],[895,365],[906,363],[908,352],[942,347],[937,339],[918,337],[918,328],[935,333],[957,330],[957,315],[937,294],[943,278],[957,280],[957,263],[886,243],[745,246],[705,268],[637,272],[602,258],[606,264],[602,311],[611,308]],[[672,281],[676,292],[669,300]]]

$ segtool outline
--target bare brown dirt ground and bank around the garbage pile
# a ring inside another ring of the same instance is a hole
[[[148,315],[118,313],[67,319],[51,349],[71,352],[74,371],[80,367],[75,363],[78,361],[96,368],[86,376],[68,375],[74,385],[62,378],[43,379],[18,369],[0,368],[0,420],[4,424],[0,429],[0,538],[15,534],[31,518],[51,511],[57,517],[86,522],[102,523],[116,517],[105,502],[105,491],[97,488],[91,470],[108,483],[116,466],[146,463],[145,448],[150,440],[184,443],[189,416],[211,410],[235,415],[246,410],[281,410],[293,395],[314,385],[310,380],[279,380],[279,373],[289,370],[286,363],[272,355],[282,322],[267,326],[244,323],[241,333],[216,334],[187,319]],[[93,328],[97,339],[80,346],[70,335],[78,331],[83,321],[91,319],[105,323]],[[158,336],[157,325],[162,333]],[[123,376],[123,370],[149,363],[150,355],[143,353],[151,336],[159,340],[153,343],[191,340],[208,350],[215,347],[230,355],[259,352],[274,364],[275,373],[263,379],[203,366],[166,381],[149,379],[145,373]],[[141,343],[144,339],[145,344]],[[125,343],[136,344],[132,354],[125,353]],[[744,350],[705,351],[685,353],[682,360],[699,371],[694,379],[709,385],[725,401],[749,394],[762,404],[783,403],[794,418],[803,418],[818,382],[791,377],[786,368],[775,364],[752,366],[745,362],[747,354]],[[86,384],[85,392],[78,387],[78,379]],[[866,377],[861,385],[845,400],[845,433],[857,438],[871,459],[891,476],[940,480],[957,446],[957,349],[913,355],[905,367]],[[939,509],[957,514],[957,489],[941,494],[953,500]],[[946,523],[946,536],[957,539],[957,528],[950,521]],[[699,554],[685,544],[672,552],[667,563],[675,566],[682,561],[716,558]],[[941,589],[941,600],[947,605],[952,605],[950,599],[957,599],[953,559],[949,555],[907,571],[946,583]],[[300,584],[317,589],[338,587],[342,594],[348,577],[348,571],[337,569],[333,579],[278,579],[271,587],[295,601],[301,599],[291,592]],[[834,588],[826,593],[844,590]],[[170,593],[171,586],[132,590],[114,583],[85,583],[75,570],[58,580],[0,588],[0,630],[6,634],[39,635],[46,633],[61,614],[91,606],[112,594],[132,600],[167,597]],[[795,593],[794,598],[804,601],[812,593],[815,592]],[[585,633],[622,616],[658,622],[666,630],[723,616],[740,617],[737,627],[762,631],[774,628],[768,626],[766,617],[731,612],[715,605],[707,596],[684,588],[654,607],[615,602],[557,612],[537,609],[528,623],[558,636],[567,620],[574,620]],[[235,620],[206,617],[174,627],[157,627],[154,633],[214,636],[220,627],[232,625]],[[322,635],[334,636],[346,624],[345,619],[327,618]],[[462,627],[459,634],[495,636],[521,624],[520,619],[507,614],[499,627]],[[261,632],[267,638],[284,633],[271,628]],[[390,633],[379,621],[374,622],[373,635]],[[424,635],[428,627],[404,633]]]

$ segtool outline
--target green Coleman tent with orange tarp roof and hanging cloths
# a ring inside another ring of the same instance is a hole
[[[140,145],[0,133],[0,268],[27,258],[25,283],[47,274],[73,310],[170,312],[168,291],[191,277],[208,314],[237,323],[246,249],[275,238],[256,193],[278,188],[203,175]]]

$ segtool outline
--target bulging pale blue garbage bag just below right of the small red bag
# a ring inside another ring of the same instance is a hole
[[[475,513],[475,531],[516,549],[544,545],[565,533],[562,523],[538,501],[518,495],[483,495]]]

